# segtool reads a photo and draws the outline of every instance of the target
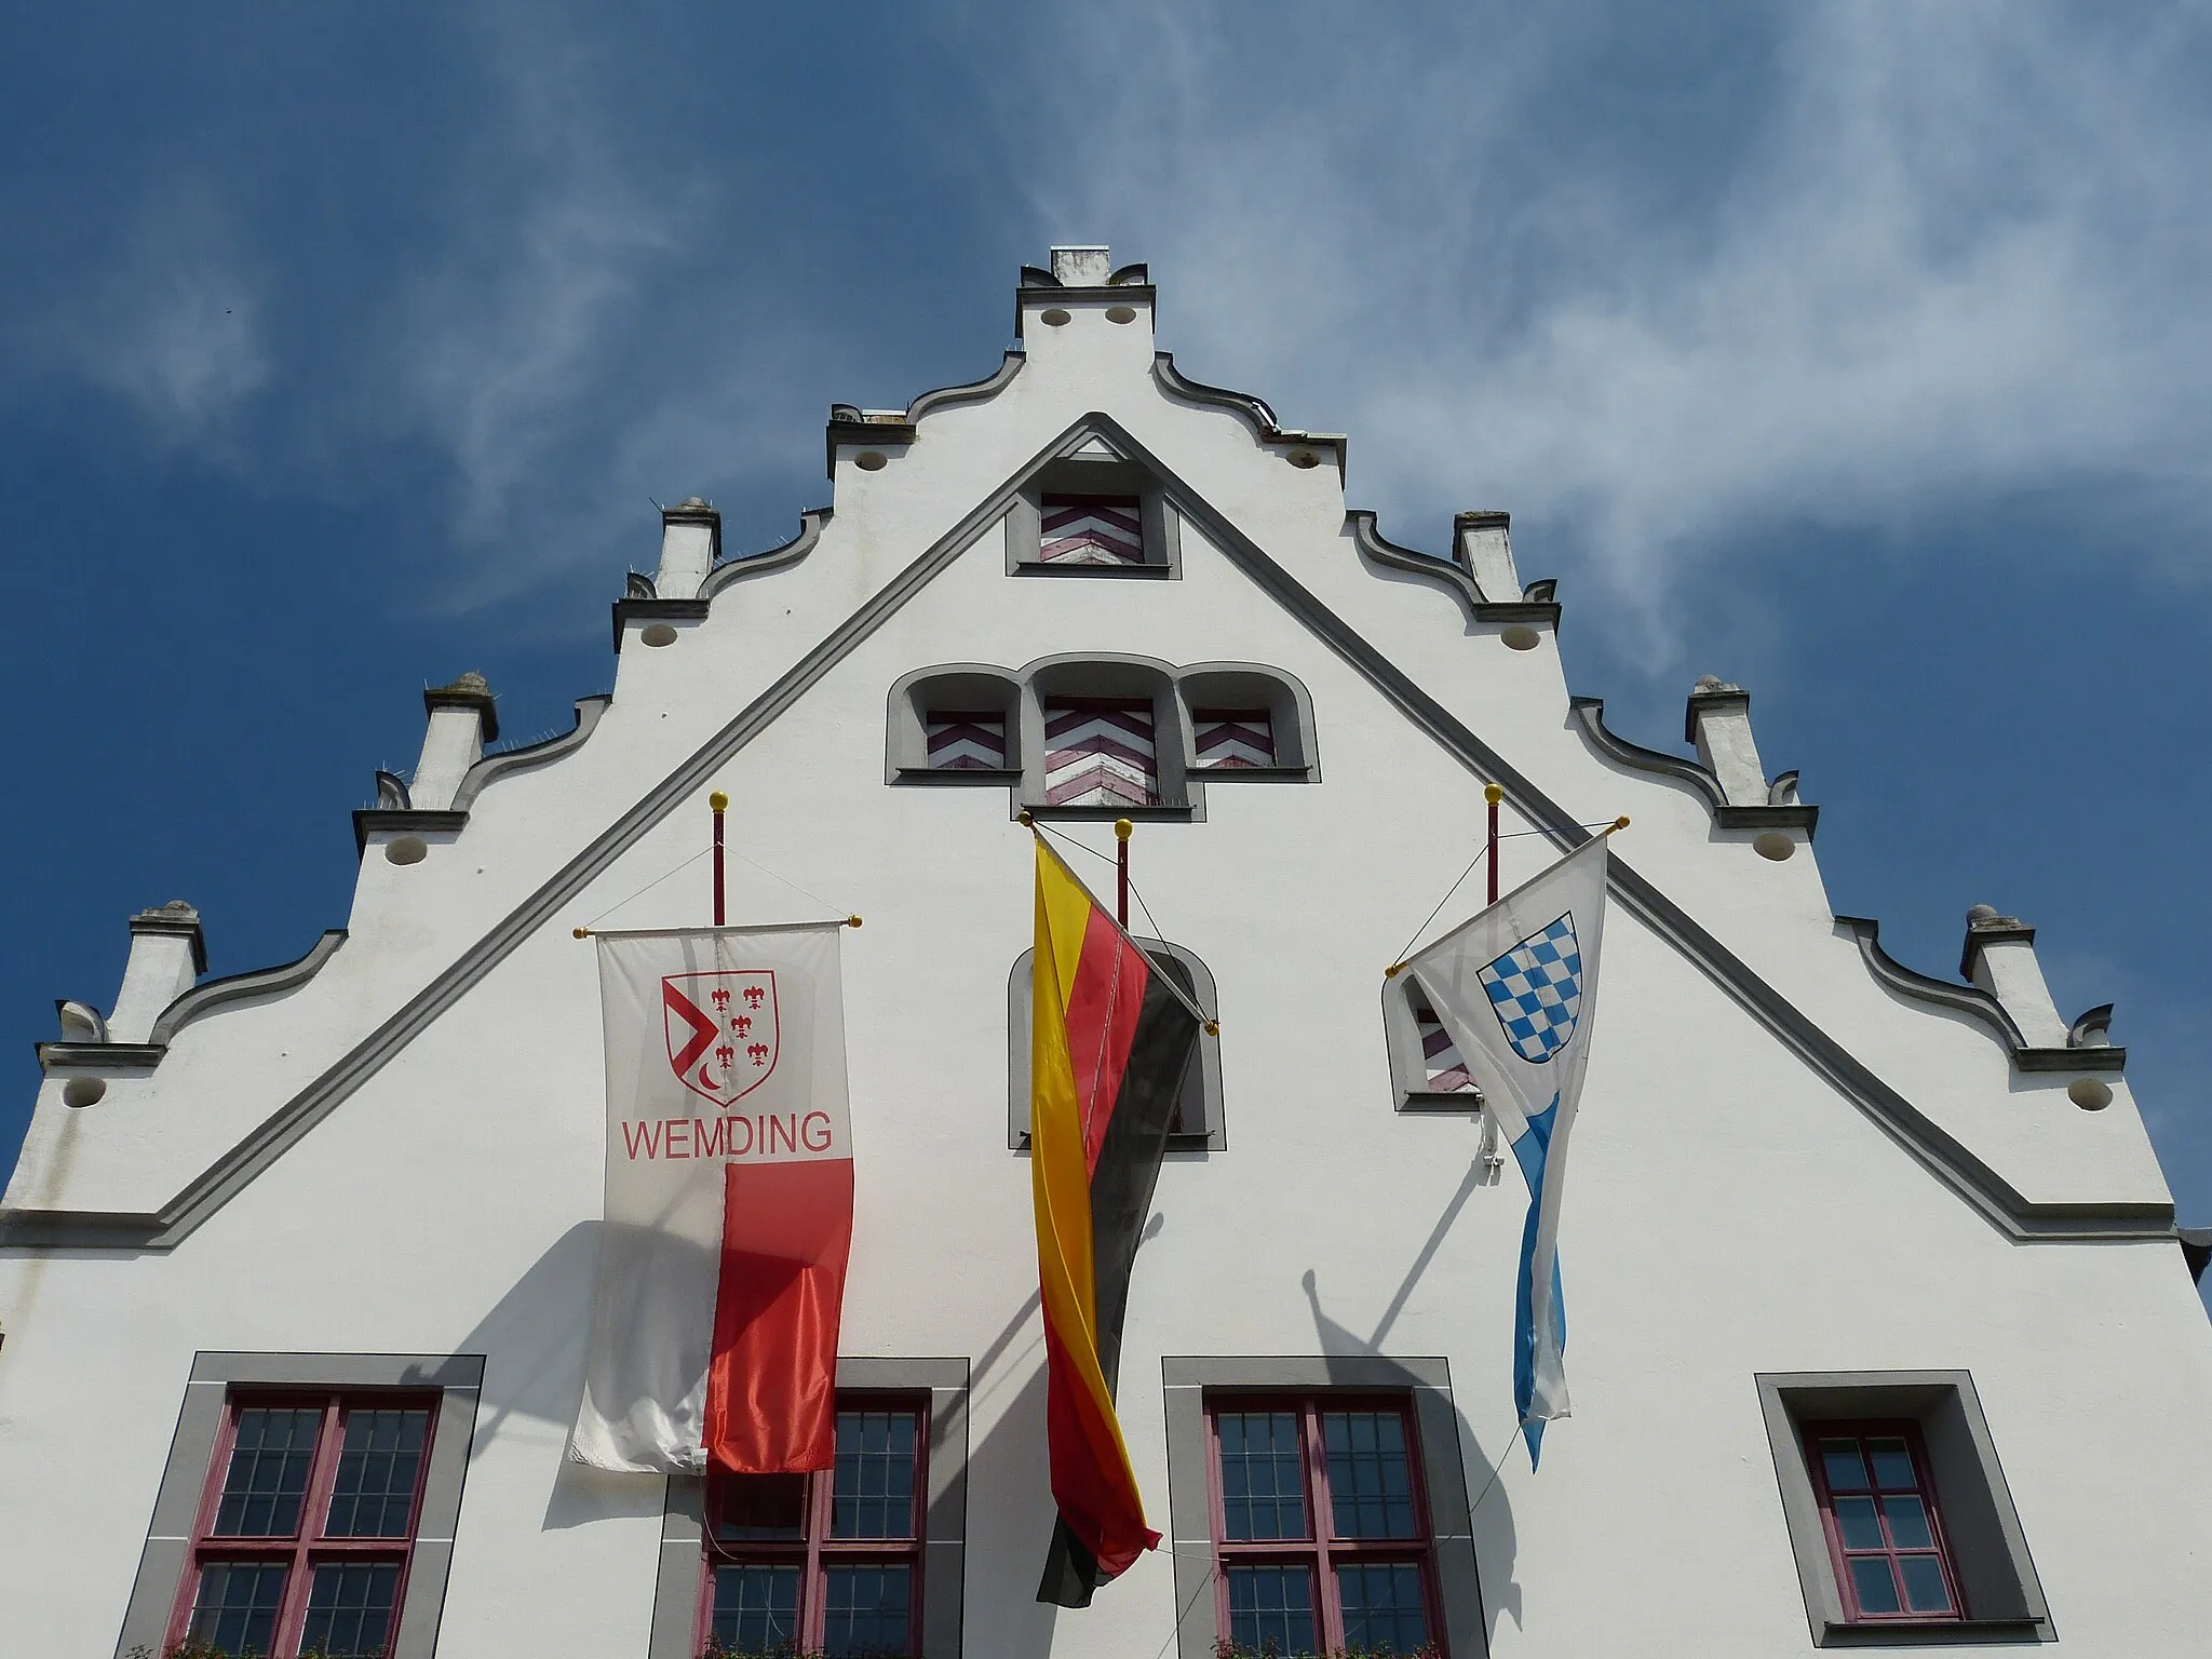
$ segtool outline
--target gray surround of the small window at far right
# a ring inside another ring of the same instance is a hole
[[[1805,1621],[1816,1648],[2057,1641],[1971,1371],[1761,1371],[1756,1383],[1790,1551],[1805,1593]],[[1920,1425],[1951,1566],[1966,1601],[1964,1619],[1845,1619],[1820,1504],[1805,1467],[1805,1425],[1869,1418]]]

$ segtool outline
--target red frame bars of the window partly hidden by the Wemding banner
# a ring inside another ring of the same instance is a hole
[[[929,1557],[929,1396],[927,1394],[845,1394],[836,1411],[905,1411],[914,1418],[914,1517],[907,1537],[830,1537],[830,1509],[836,1498],[836,1469],[803,1475],[801,1537],[732,1540],[714,1537],[732,1482],[779,1480],[781,1475],[739,1475],[719,1464],[708,1467],[701,1533],[703,1571],[699,1573],[699,1610],[692,1628],[692,1652],[712,1652],[714,1635],[714,1568],[717,1566],[790,1566],[799,1564],[799,1632],[792,1648],[801,1655],[823,1650],[827,1584],[832,1566],[905,1566],[907,1584],[907,1652],[922,1652],[922,1579]]]

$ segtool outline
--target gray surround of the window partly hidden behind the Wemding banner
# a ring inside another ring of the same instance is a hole
[[[922,1652],[960,1659],[967,1577],[969,1363],[838,1356],[838,1394],[929,1396],[929,1498],[922,1511]],[[706,1478],[668,1475],[648,1659],[697,1659],[706,1575]]]

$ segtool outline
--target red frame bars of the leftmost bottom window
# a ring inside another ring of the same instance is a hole
[[[215,1520],[223,1502],[223,1482],[230,1475],[230,1455],[239,1442],[239,1416],[259,1409],[321,1409],[323,1413],[323,1422],[314,1433],[314,1453],[307,1462],[307,1486],[299,1504],[299,1524],[290,1533],[239,1537],[217,1533]],[[330,1500],[338,1484],[338,1460],[345,1451],[345,1413],[354,1409],[429,1413],[429,1420],[422,1425],[422,1453],[416,1462],[414,1495],[407,1502],[407,1533],[400,1537],[327,1537],[323,1533],[330,1526]],[[316,1566],[341,1559],[396,1562],[400,1568],[398,1584],[392,1590],[392,1635],[396,1637],[400,1610],[407,1606],[407,1573],[414,1566],[416,1533],[422,1531],[422,1489],[429,1480],[436,1436],[436,1394],[405,1389],[232,1389],[223,1400],[223,1427],[215,1438],[215,1455],[208,1458],[208,1480],[199,1493],[199,1511],[192,1515],[192,1540],[184,1557],[184,1582],[177,1586],[177,1604],[168,1615],[168,1632],[161,1641],[164,1652],[186,1639],[192,1626],[192,1608],[199,1601],[199,1573],[210,1562],[285,1564],[283,1601],[279,1604],[274,1635],[270,1637],[272,1659],[299,1652]]]

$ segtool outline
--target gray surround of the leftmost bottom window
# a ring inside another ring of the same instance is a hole
[[[195,1354],[184,1385],[177,1433],[168,1447],[161,1489],[155,1495],[146,1548],[115,1641],[117,1659],[133,1648],[161,1652],[168,1619],[190,1566],[192,1522],[208,1489],[223,1411],[241,1394],[314,1389],[369,1394],[376,1389],[438,1391],[429,1469],[422,1478],[422,1513],[407,1562],[392,1659],[431,1659],[445,1584],[453,1564],[453,1528],[460,1522],[460,1491],[469,1473],[476,1438],[476,1405],[484,1385],[482,1354]]]

